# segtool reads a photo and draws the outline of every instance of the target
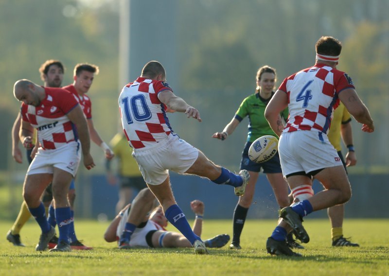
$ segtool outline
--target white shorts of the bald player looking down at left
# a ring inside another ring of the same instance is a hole
[[[44,150],[38,149],[38,152],[27,170],[27,175],[37,173],[54,172],[54,167],[65,172],[71,173],[73,177],[77,173],[81,160],[81,144],[72,141],[59,149]]]

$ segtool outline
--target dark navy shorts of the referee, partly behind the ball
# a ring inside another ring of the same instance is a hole
[[[248,158],[248,149],[251,144],[252,142],[246,142],[245,148],[243,149],[242,160],[240,162],[241,170],[259,173],[262,168],[264,173],[282,173],[280,155],[278,155],[278,152],[270,160],[263,163],[256,163]]]

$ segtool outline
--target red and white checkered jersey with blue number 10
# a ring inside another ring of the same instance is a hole
[[[151,148],[171,133],[166,105],[158,93],[172,91],[165,82],[139,77],[124,86],[119,96],[119,111],[124,134],[134,149]]]

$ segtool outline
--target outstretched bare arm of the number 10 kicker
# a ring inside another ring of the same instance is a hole
[[[177,97],[172,91],[162,91],[158,94],[158,98],[159,101],[161,101],[163,104],[166,104],[169,109],[175,110],[177,112],[185,112],[188,118],[193,117],[197,121],[202,121],[198,110],[195,107],[187,104],[182,98]]]

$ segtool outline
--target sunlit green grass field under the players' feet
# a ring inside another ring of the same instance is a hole
[[[93,250],[39,253],[34,251],[40,233],[35,222],[22,229],[26,247],[16,247],[5,239],[12,222],[1,221],[0,275],[389,275],[389,220],[348,219],[345,234],[361,247],[333,248],[328,220],[307,219],[311,242],[298,250],[302,258],[266,253],[265,241],[275,224],[276,220],[247,221],[242,250],[225,246],[197,256],[192,248],[119,250],[103,240],[108,222],[97,221],[76,221],[78,238]],[[231,232],[230,221],[205,220],[202,237]]]

